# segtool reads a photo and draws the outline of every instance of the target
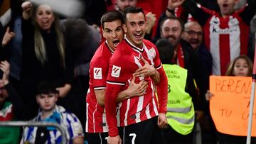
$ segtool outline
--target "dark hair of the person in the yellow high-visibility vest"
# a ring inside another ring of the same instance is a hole
[[[159,50],[159,57],[163,64],[171,64],[174,58],[174,46],[166,38],[156,41],[156,48]]]

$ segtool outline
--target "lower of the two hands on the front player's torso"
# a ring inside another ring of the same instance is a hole
[[[127,88],[127,95],[130,97],[132,96],[142,96],[146,94],[146,89],[148,88],[149,84],[148,82],[142,80],[139,82],[139,84],[135,83],[135,75],[132,74],[132,81],[129,84],[129,87]]]

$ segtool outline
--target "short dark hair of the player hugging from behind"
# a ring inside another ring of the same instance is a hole
[[[120,11],[107,11],[102,15],[100,23],[104,29],[104,23],[120,20],[124,24],[124,17]]]

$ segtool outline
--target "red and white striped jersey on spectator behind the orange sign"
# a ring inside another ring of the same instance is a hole
[[[213,55],[215,75],[224,75],[230,61],[239,55],[247,55],[250,27],[240,18],[241,11],[225,18],[211,11],[203,28],[206,47]]]

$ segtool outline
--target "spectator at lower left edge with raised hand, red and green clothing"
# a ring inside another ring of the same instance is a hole
[[[9,82],[10,65],[6,60],[1,61],[0,70],[3,72],[0,80],[0,121],[17,121],[22,116],[21,98]],[[20,128],[0,127],[1,143],[18,143]]]

